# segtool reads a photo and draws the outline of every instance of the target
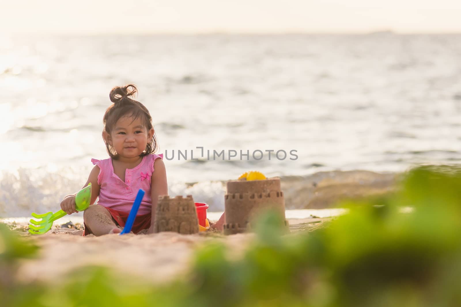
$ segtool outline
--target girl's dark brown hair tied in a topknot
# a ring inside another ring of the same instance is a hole
[[[113,104],[106,109],[106,113],[103,118],[104,130],[107,133],[110,134],[118,119],[124,116],[130,116],[133,120],[141,118],[142,124],[147,128],[147,130],[154,128],[152,125],[152,117],[150,116],[148,109],[144,107],[141,102],[130,98],[133,97],[137,91],[138,89],[134,84],[125,85],[123,87],[116,86],[111,90],[109,98]],[[104,140],[104,142],[106,143],[107,153],[109,153],[113,159],[118,159],[118,154],[115,149],[106,142],[106,140]],[[154,132],[152,140],[147,143],[146,149],[140,154],[140,156],[142,157],[155,153],[157,148],[158,144]]]

